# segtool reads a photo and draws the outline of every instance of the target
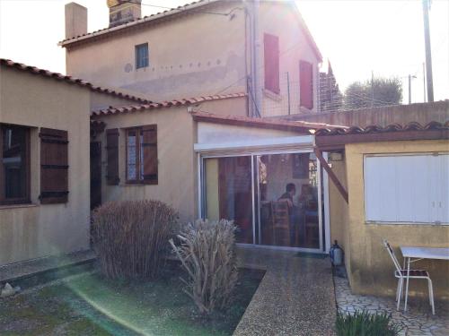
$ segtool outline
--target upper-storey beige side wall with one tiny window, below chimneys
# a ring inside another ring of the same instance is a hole
[[[106,4],[105,4],[106,5]],[[240,2],[207,7],[228,13]],[[206,11],[206,9],[204,9]],[[103,85],[142,92],[154,101],[245,91],[244,20],[195,13],[148,23],[66,50],[66,73]],[[149,66],[135,68],[135,46],[148,43]],[[223,92],[220,92],[223,93]]]

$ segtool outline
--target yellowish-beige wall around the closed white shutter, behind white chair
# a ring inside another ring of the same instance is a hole
[[[365,224],[363,160],[365,153],[422,153],[449,151],[447,141],[372,142],[348,144],[346,166],[349,194],[348,242],[350,254],[348,275],[356,293],[394,295],[397,282],[393,264],[382,240],[387,239],[401,256],[399,246],[449,246],[449,227],[414,224]],[[412,183],[413,181],[410,181]],[[348,258],[347,258],[348,260]],[[347,264],[348,266],[348,264]],[[421,261],[413,265],[424,268],[434,282],[436,297],[449,299],[449,263]],[[411,281],[411,295],[427,295],[425,281]]]

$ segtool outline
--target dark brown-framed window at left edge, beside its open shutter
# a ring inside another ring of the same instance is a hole
[[[0,204],[30,202],[30,128],[0,125]]]

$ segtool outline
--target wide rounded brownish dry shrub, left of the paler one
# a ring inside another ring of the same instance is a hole
[[[154,278],[178,214],[160,201],[107,202],[92,213],[92,242],[111,279]]]

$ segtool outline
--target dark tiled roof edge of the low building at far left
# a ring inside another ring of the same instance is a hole
[[[26,71],[28,73],[33,73],[33,74],[39,74],[41,76],[45,76],[48,78],[53,78],[57,81],[63,81],[63,82],[67,82],[70,84],[75,84],[75,85],[79,85],[82,87],[85,87],[89,90],[95,91],[95,92],[101,92],[101,93],[105,93],[105,94],[109,94],[111,96],[115,96],[115,97],[119,97],[122,99],[129,99],[129,100],[134,100],[138,103],[151,103],[151,100],[148,99],[142,99],[136,96],[132,96],[129,95],[127,93],[123,93],[123,92],[119,92],[118,90],[111,90],[108,88],[103,88],[101,86],[97,86],[97,85],[93,85],[91,82],[86,82],[82,79],[79,78],[75,78],[72,76],[67,76],[65,74],[62,73],[53,73],[50,72],[48,70],[44,70],[44,69],[40,69],[37,68],[35,66],[31,66],[31,65],[23,65],[22,63],[17,63],[17,62],[13,62],[10,59],[5,59],[5,58],[0,58],[0,65],[4,65],[4,66],[8,66],[17,70],[22,70],[22,71]]]

